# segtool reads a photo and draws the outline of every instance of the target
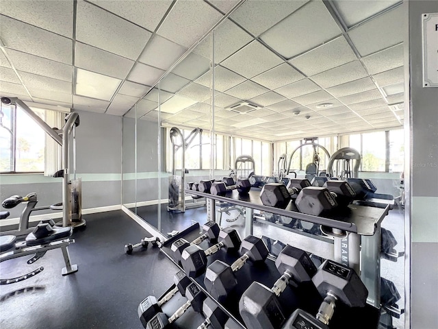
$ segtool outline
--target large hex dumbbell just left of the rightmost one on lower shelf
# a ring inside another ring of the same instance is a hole
[[[316,273],[316,267],[306,252],[291,245],[286,245],[280,252],[275,265],[283,275],[272,288],[253,282],[240,298],[239,311],[246,328],[280,328],[285,315],[277,297],[292,280],[296,283],[310,281]]]

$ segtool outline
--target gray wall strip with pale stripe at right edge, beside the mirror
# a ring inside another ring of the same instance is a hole
[[[409,12],[409,120],[407,192],[411,212],[411,328],[438,328],[438,88],[422,87],[422,14],[438,1],[407,1]],[[438,38],[438,32],[437,32]],[[408,53],[406,54],[408,55]],[[408,58],[408,56],[405,56]],[[405,62],[406,63],[406,62]],[[408,87],[407,87],[408,88]]]

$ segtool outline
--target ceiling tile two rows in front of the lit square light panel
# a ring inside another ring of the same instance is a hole
[[[120,19],[95,5],[77,3],[76,40],[137,60],[151,32]]]

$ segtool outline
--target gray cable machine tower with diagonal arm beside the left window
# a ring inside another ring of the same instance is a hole
[[[57,223],[57,225],[62,227],[71,226],[73,228],[86,226],[86,221],[81,217],[81,180],[70,180],[70,134],[73,133],[73,162],[76,162],[75,129],[79,126],[79,114],[77,112],[68,114],[65,117],[64,127],[57,129],[47,125],[21,99],[2,97],[1,103],[19,106],[21,110],[28,114],[31,119],[40,125],[62,147],[62,169],[53,175],[53,177],[62,178],[62,223]],[[73,168],[75,169],[75,164]],[[61,207],[61,204],[59,206]]]

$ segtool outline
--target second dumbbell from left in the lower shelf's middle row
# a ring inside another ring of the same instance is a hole
[[[181,254],[181,265],[185,273],[191,278],[197,278],[207,268],[207,256],[224,248],[227,252],[237,252],[242,243],[239,233],[233,228],[227,227],[219,232],[219,243],[204,251],[198,245],[189,245]]]

